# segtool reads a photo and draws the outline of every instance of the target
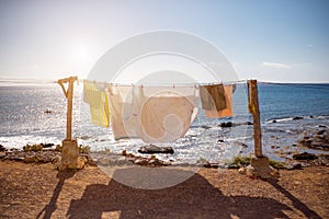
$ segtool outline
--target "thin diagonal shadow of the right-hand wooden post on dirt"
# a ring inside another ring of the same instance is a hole
[[[302,203],[298,198],[293,196],[288,191],[286,191],[284,187],[277,184],[276,180],[268,180],[268,182],[276,188],[280,193],[282,193],[285,197],[287,197],[295,208],[300,210],[305,217],[313,218],[313,219],[320,219],[321,217],[315,212],[314,210],[309,209],[304,203]]]

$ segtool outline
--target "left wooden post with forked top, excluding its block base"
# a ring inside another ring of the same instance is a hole
[[[77,80],[77,77],[70,77],[58,80],[58,83],[63,89],[65,97],[67,99],[66,140],[72,139],[73,84]],[[65,90],[64,83],[68,83],[67,90]]]

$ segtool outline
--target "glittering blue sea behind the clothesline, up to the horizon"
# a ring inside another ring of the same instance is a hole
[[[329,84],[258,83],[263,153],[283,160],[283,150],[325,153],[296,147],[303,136],[329,127]],[[159,143],[172,147],[173,154],[157,154],[172,162],[200,160],[222,162],[235,155],[253,153],[252,116],[248,112],[247,84],[237,83],[234,117],[206,118],[203,110],[183,138]],[[47,113],[48,112],[48,113]],[[83,102],[82,84],[75,85],[73,137],[91,152],[123,150],[138,155],[148,143],[140,139],[115,141],[111,127],[91,124],[89,106]],[[67,100],[57,83],[0,83],[0,145],[22,149],[25,145],[59,145],[66,137]],[[232,127],[222,127],[223,123]],[[248,123],[249,122],[249,123]]]

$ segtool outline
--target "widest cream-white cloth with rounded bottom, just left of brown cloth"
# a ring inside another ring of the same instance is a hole
[[[162,90],[143,104],[139,137],[150,143],[174,141],[186,134],[196,114],[194,88]]]

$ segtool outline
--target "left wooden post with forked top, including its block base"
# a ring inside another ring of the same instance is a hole
[[[59,79],[60,85],[65,97],[67,99],[67,120],[66,120],[66,138],[61,141],[61,162],[59,170],[65,169],[81,169],[84,163],[79,158],[79,148],[76,139],[72,138],[72,107],[73,107],[73,84],[78,80],[78,77],[70,77],[66,79]],[[68,83],[67,90],[64,84]]]

